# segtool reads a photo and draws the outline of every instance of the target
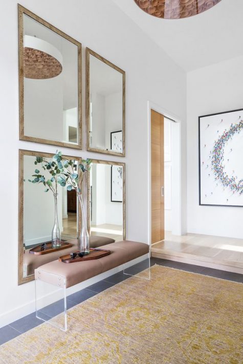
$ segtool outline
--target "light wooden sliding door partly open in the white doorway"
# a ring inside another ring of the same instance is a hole
[[[151,242],[164,240],[164,116],[151,110]]]

